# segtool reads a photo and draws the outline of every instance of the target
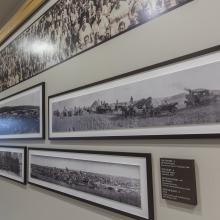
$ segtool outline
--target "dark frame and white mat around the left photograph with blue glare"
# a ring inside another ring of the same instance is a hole
[[[22,93],[28,92],[29,90],[35,89],[37,87],[41,87],[41,109],[40,109],[40,136],[39,135],[33,135],[31,136],[30,134],[21,134],[21,136],[19,137],[19,134],[9,134],[9,135],[0,135],[0,140],[27,140],[27,139],[32,139],[32,140],[38,140],[38,139],[44,139],[45,138],[45,83],[41,82],[38,83],[34,86],[28,87],[24,90],[21,90],[17,93],[13,93],[7,97],[4,97],[2,99],[0,99],[0,104],[2,101],[6,101],[7,99],[10,99],[12,97],[16,97],[18,95],[21,95]],[[13,137],[13,135],[15,135],[16,137]],[[26,136],[25,136],[26,135]],[[4,136],[4,137],[3,137]],[[37,137],[39,136],[39,137]]]

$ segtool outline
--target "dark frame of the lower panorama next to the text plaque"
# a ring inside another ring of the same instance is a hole
[[[107,209],[109,211],[114,211],[116,213],[132,217],[138,220],[154,220],[154,204],[153,204],[153,183],[152,183],[152,164],[151,164],[151,154],[150,153],[130,153],[130,152],[110,152],[110,151],[82,151],[82,150],[67,150],[67,149],[55,149],[55,148],[28,148],[28,158],[29,158],[29,163],[30,163],[30,151],[47,151],[47,152],[60,152],[60,153],[76,153],[76,154],[91,154],[91,155],[103,155],[103,156],[125,156],[125,157],[134,157],[134,158],[145,158],[146,159],[146,167],[147,167],[147,195],[148,195],[148,215],[149,218],[143,218],[140,216],[136,216],[115,208],[111,208],[108,206],[105,206],[103,204],[99,204],[84,198],[80,198],[77,196],[70,195],[68,193],[64,193],[55,189],[51,189],[45,186],[42,186],[40,184],[36,184],[34,182],[31,182],[30,179],[28,178],[28,183],[37,187],[40,187],[42,189],[46,189],[55,193],[58,193],[63,196],[67,196],[76,200],[79,200],[81,202],[86,202],[90,205],[94,205],[100,208]],[[30,166],[30,164],[29,164]],[[29,177],[29,174],[28,174]]]

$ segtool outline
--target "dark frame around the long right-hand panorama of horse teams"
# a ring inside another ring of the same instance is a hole
[[[48,96],[48,135],[49,135],[49,140],[219,138],[220,134],[218,134],[218,133],[213,133],[213,134],[135,135],[135,136],[100,136],[100,137],[99,136],[98,137],[97,136],[96,137],[50,137],[50,117],[49,117],[49,114],[50,114],[49,102],[50,102],[51,98],[61,96],[61,95],[65,95],[65,94],[72,93],[72,92],[76,92],[76,91],[79,91],[79,90],[87,89],[89,87],[97,86],[97,85],[104,84],[104,83],[107,83],[107,82],[110,82],[110,81],[123,79],[123,78],[126,78],[128,76],[133,76],[135,74],[139,74],[141,72],[154,70],[154,69],[165,67],[165,66],[168,66],[168,65],[171,65],[171,64],[177,64],[177,63],[182,62],[182,61],[187,61],[187,60],[190,60],[192,58],[201,57],[201,56],[208,55],[208,54],[218,52],[218,51],[220,51],[220,45],[210,47],[210,48],[207,48],[207,49],[204,49],[204,50],[200,50],[200,51],[197,51],[197,52],[194,52],[194,53],[190,53],[190,54],[187,54],[187,55],[184,55],[184,56],[180,56],[180,57],[177,57],[177,58],[174,58],[174,59],[163,61],[163,62],[160,62],[160,63],[157,63],[157,64],[153,64],[153,65],[146,66],[146,67],[143,67],[143,68],[140,68],[140,69],[137,69],[137,70],[133,70],[133,71],[121,74],[121,75],[117,75],[117,76],[114,76],[114,77],[111,77],[111,78],[107,78],[107,79],[104,79],[104,80],[101,80],[101,81],[98,81],[98,82],[90,83],[90,84],[83,85],[83,86],[80,86],[80,87],[77,87],[77,88],[74,88],[74,89],[71,89],[71,90],[67,90],[67,91],[64,91],[64,92],[60,92],[60,93]]]

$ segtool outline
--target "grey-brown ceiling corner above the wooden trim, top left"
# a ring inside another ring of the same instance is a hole
[[[0,29],[26,0],[0,0]]]

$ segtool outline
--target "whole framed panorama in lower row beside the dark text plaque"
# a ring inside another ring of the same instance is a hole
[[[154,219],[151,154],[29,148],[28,182],[136,219]]]

